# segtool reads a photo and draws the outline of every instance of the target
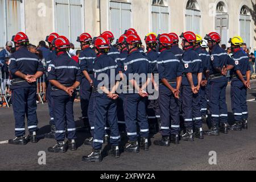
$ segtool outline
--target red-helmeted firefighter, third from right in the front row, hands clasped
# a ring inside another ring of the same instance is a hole
[[[182,110],[186,133],[183,140],[193,141],[193,127],[196,128],[196,137],[203,139],[202,117],[200,113],[200,83],[203,69],[202,61],[193,50],[196,43],[196,35],[193,32],[184,32],[180,35],[181,46],[185,50],[182,57],[184,74],[182,79]]]

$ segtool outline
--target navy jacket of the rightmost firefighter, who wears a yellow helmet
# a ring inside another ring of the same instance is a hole
[[[246,56],[242,50],[237,51],[233,54],[233,65],[234,68],[232,69],[232,75],[236,75],[236,71],[240,71],[242,75],[246,78],[246,72],[250,71],[250,64],[249,64],[249,57]],[[238,82],[237,82],[238,81]],[[237,86],[242,86],[242,81],[238,78],[233,78],[232,82],[236,82]]]

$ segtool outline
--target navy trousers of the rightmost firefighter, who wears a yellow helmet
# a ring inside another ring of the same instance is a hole
[[[247,88],[241,81],[232,81],[231,83],[231,105],[235,121],[248,119],[247,110]]]

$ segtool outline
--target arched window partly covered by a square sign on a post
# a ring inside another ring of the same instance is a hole
[[[228,44],[229,15],[224,2],[218,2],[215,15],[215,30],[221,35],[221,44]]]

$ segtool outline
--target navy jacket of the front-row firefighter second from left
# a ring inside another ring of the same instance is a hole
[[[79,64],[68,53],[57,56],[48,67],[48,80],[56,80],[67,87],[72,86],[76,81],[81,82]],[[68,93],[61,89],[51,92],[51,96],[67,95]]]

